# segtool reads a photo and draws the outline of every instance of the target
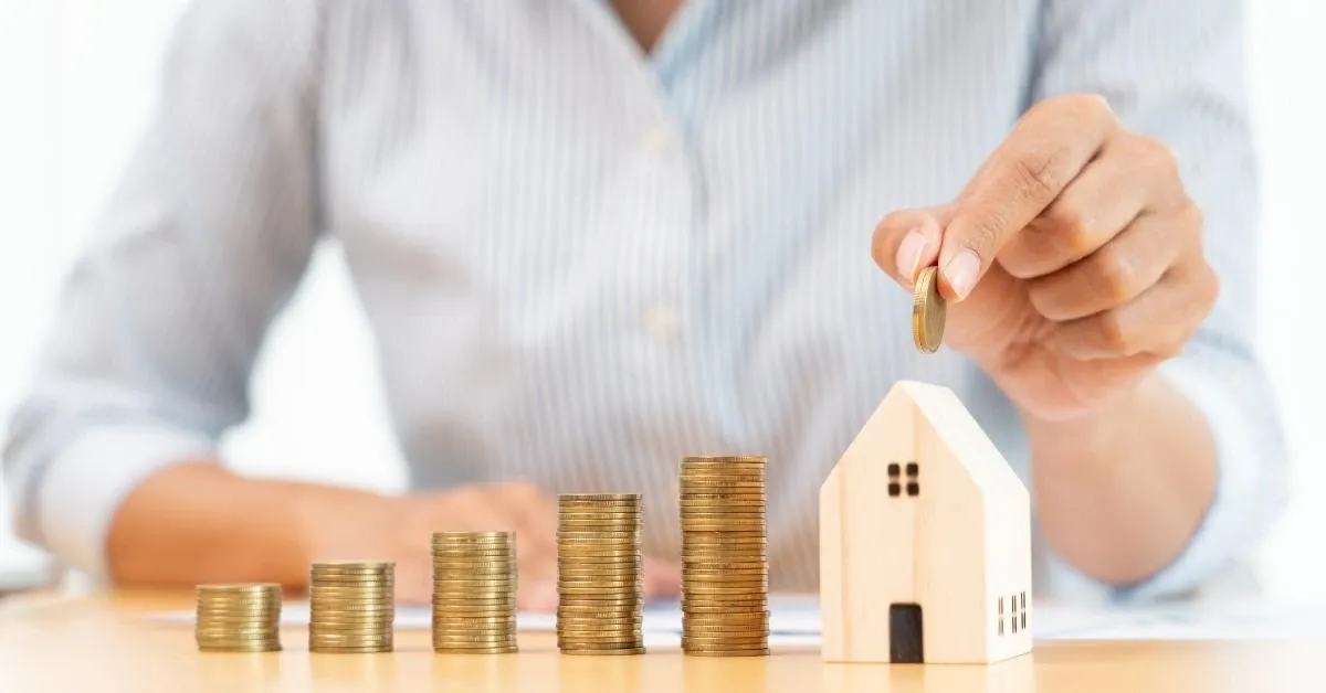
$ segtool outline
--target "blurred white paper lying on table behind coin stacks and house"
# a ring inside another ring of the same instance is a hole
[[[814,598],[773,596],[769,602],[769,643],[772,647],[817,647],[819,644],[819,604]],[[1228,640],[1314,637],[1326,640],[1326,604],[1269,606],[1229,603],[1150,608],[1093,608],[1062,604],[1033,604],[1033,637],[1037,640]],[[192,611],[155,613],[151,617],[192,623]],[[398,607],[398,629],[428,629],[428,607]],[[286,600],[281,608],[284,625],[302,627],[309,621],[309,606]],[[552,613],[517,615],[521,631],[554,631]],[[644,608],[646,647],[676,645],[682,637],[682,612],[675,602]]]

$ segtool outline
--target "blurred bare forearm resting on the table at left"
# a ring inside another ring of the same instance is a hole
[[[320,525],[362,517],[382,502],[359,490],[244,478],[210,462],[174,465],[134,489],[115,513],[107,568],[126,586],[277,582],[298,590]]]

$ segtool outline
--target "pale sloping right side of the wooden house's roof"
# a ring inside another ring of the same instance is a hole
[[[991,500],[991,494],[1010,500],[1028,497],[1022,480],[952,390],[915,380],[899,380],[890,388],[886,400],[890,398],[911,400],[916,412],[930,421],[931,428],[967,469],[972,481],[987,493],[987,500]]]

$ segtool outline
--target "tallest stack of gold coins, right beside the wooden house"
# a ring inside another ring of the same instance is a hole
[[[764,457],[682,460],[682,651],[769,653]]]

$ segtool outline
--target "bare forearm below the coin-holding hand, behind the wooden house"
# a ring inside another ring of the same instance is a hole
[[[1184,549],[1216,488],[1215,440],[1191,401],[1152,376],[1090,416],[1025,421],[1040,523],[1065,560],[1124,587]]]

